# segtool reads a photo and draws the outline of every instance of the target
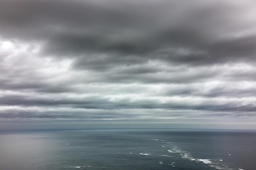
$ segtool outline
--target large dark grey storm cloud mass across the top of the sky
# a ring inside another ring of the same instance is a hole
[[[10,0],[1,3],[3,37],[43,41],[48,55],[75,55],[74,67],[78,68],[100,70],[114,64],[148,60],[200,65],[236,60],[254,62],[256,35],[227,36],[253,28],[248,23],[234,25],[247,19],[242,18],[247,17],[241,13],[245,9],[237,6],[232,9],[227,2]],[[103,54],[105,57],[101,57]]]

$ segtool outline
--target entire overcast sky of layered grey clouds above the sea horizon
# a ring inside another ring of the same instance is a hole
[[[0,129],[256,129],[254,0],[0,0]]]

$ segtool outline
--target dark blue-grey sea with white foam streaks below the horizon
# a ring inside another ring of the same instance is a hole
[[[0,132],[0,170],[255,170],[256,131]]]

